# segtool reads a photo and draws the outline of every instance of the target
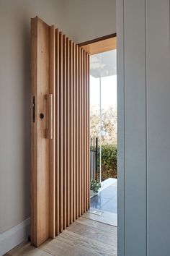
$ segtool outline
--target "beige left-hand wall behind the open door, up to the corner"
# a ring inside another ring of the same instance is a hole
[[[62,0],[0,1],[0,233],[30,217],[30,18],[62,29]]]

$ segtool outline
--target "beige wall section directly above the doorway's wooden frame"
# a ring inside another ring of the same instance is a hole
[[[116,33],[116,0],[64,0],[64,33],[76,43]]]

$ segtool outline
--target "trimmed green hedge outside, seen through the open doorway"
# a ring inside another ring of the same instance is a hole
[[[99,147],[97,155],[99,170]],[[102,145],[102,181],[108,178],[117,178],[117,146],[115,144]]]

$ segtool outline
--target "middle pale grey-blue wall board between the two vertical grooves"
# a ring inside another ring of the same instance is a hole
[[[146,255],[145,0],[124,1],[125,255]]]

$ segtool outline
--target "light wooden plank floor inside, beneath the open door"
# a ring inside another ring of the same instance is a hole
[[[117,228],[81,217],[55,239],[49,239],[39,248],[24,242],[6,256],[93,256],[117,255]]]

